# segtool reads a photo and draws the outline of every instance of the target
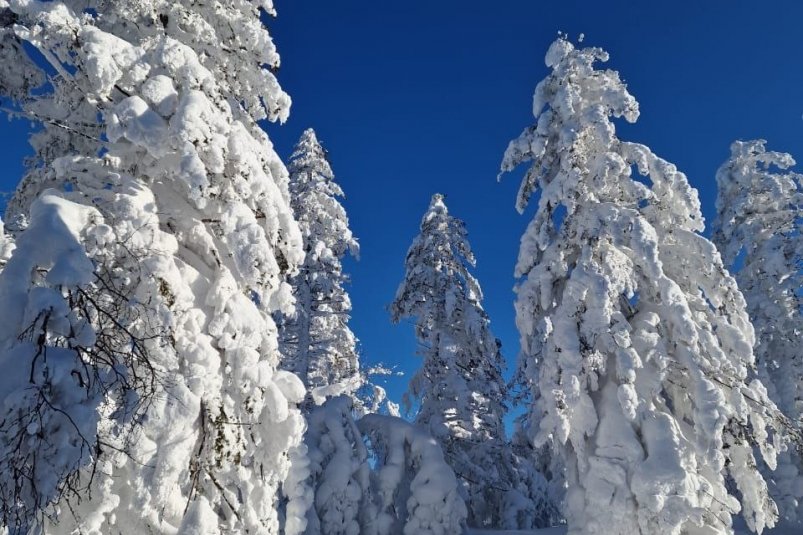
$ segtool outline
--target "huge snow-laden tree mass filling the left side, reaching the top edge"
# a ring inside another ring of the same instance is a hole
[[[12,533],[278,532],[304,389],[271,318],[303,251],[257,124],[290,104],[272,12],[0,0],[2,98],[41,125],[0,274]]]

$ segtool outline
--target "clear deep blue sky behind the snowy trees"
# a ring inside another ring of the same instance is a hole
[[[532,92],[558,30],[611,55],[641,105],[619,129],[675,163],[714,215],[714,173],[737,138],[803,160],[803,3],[735,1],[276,0],[271,33],[290,120],[268,130],[287,157],[313,127],[360,240],[348,262],[352,327],[367,362],[417,366],[411,325],[392,326],[403,261],[434,192],[466,221],[495,334],[513,363],[513,265],[532,213],[496,174],[532,123]],[[24,123],[0,123],[0,189],[19,180]],[[400,399],[407,378],[390,385]]]

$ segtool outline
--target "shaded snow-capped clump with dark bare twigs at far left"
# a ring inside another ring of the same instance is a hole
[[[93,346],[97,332],[70,305],[94,280],[82,242],[100,227],[97,210],[45,191],[0,273],[0,302],[13,303],[0,307],[0,508],[11,525],[57,499],[98,441],[114,374],[84,364],[80,348]]]

